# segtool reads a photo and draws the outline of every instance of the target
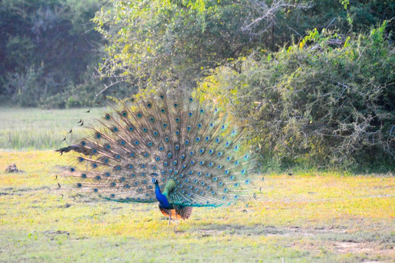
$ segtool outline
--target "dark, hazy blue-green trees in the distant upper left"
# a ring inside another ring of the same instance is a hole
[[[83,83],[103,45],[89,23],[99,8],[99,0],[1,0],[2,102],[38,106]]]

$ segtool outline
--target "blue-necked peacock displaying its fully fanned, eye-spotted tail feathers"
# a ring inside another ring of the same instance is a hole
[[[79,140],[56,150],[69,152],[61,177],[71,195],[158,202],[168,224],[188,219],[193,207],[245,199],[255,165],[243,127],[199,94],[158,88],[110,104]]]

